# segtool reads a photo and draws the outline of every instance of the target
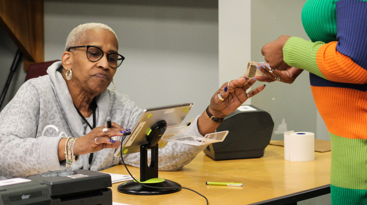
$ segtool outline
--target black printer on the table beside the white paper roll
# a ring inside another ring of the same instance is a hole
[[[214,160],[260,158],[270,143],[274,122],[270,114],[253,105],[242,105],[217,128],[228,130],[223,142],[209,144],[204,153]]]

